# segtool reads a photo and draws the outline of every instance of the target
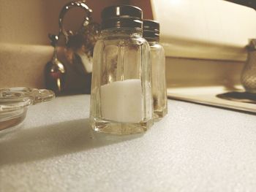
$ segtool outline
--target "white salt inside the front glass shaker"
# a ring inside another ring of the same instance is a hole
[[[143,120],[143,94],[140,80],[110,82],[100,87],[102,118],[121,123]]]

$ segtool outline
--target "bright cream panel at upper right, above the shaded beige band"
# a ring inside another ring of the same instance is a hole
[[[151,0],[166,55],[245,61],[255,9],[222,0]]]

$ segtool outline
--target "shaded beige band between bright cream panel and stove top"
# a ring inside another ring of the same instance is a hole
[[[244,62],[214,61],[191,58],[166,58],[168,88],[240,84]]]

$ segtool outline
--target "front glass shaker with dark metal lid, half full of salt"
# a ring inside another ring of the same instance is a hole
[[[136,134],[154,122],[150,47],[142,37],[142,14],[128,5],[102,11],[91,82],[90,123],[95,131]]]

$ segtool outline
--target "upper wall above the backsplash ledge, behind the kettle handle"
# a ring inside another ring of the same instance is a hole
[[[64,4],[69,1],[0,0],[0,43],[49,45],[48,33],[58,33],[59,12]],[[93,18],[96,22],[100,22],[100,12],[104,7],[121,3],[123,3],[122,0],[86,1],[86,4],[94,10]],[[67,22],[69,26],[78,28],[83,17],[83,11],[81,9],[71,9],[67,14],[67,17],[71,18]]]

